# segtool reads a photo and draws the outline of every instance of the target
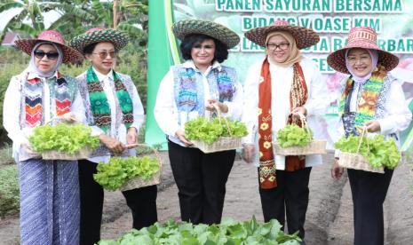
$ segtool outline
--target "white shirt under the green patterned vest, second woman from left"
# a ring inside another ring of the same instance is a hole
[[[121,125],[119,125],[119,128],[116,130],[116,125],[115,125],[115,122],[116,122],[115,118],[119,114],[117,112],[117,107],[116,107],[117,97],[115,95],[115,81],[114,81],[113,72],[110,71],[107,75],[103,75],[94,68],[93,68],[93,71],[98,76],[99,81],[102,83],[102,88],[103,88],[103,91],[105,92],[105,95],[107,97],[107,103],[109,104],[109,107],[110,107],[110,116],[112,119],[111,120],[112,123],[111,123],[110,130],[108,130],[107,133],[101,130],[99,126],[97,125],[91,126],[92,135],[99,136],[100,134],[107,134],[110,137],[116,138],[117,140],[119,140],[120,142],[126,145],[127,144],[126,126],[123,123],[121,123]],[[86,81],[83,81],[84,75],[85,74],[79,75],[78,78],[79,79],[82,78],[82,83],[87,83]],[[128,81],[130,80],[129,82],[131,83],[131,78],[129,76],[119,74],[119,73],[118,75],[121,75],[123,79],[127,78],[126,80]],[[131,124],[131,127],[136,129],[136,132],[138,135],[139,129],[144,120],[144,110],[143,110],[142,102],[140,100],[136,86],[134,84],[131,84],[131,85],[133,88],[130,94],[131,100],[132,100],[132,106],[133,106],[133,123]],[[87,94],[86,96],[87,98],[85,100],[89,101],[89,94]],[[122,113],[120,115],[122,115]],[[89,120],[92,120],[92,119],[89,119]],[[134,149],[130,149],[128,151],[128,155],[134,155],[134,154],[135,154]],[[89,158],[88,160],[91,162],[96,162],[96,163],[109,162],[110,154],[107,152],[107,155],[94,156],[94,157]]]

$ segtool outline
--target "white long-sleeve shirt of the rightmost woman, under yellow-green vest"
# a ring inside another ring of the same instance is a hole
[[[389,74],[390,75],[390,74]],[[345,89],[345,83],[347,82],[350,75],[346,76],[342,81],[342,90]],[[385,99],[385,111],[382,118],[377,119],[378,123],[380,124],[380,134],[384,135],[385,138],[390,137],[391,134],[395,134],[396,138],[396,145],[400,147],[400,137],[399,132],[405,130],[409,127],[409,123],[412,120],[412,114],[409,110],[409,105],[407,100],[405,99],[404,92],[401,89],[401,83],[397,81],[392,75],[389,77],[392,79],[390,83],[390,89],[386,95]],[[350,112],[357,112],[357,93],[359,88],[354,86],[354,91],[352,93],[352,98],[350,99]],[[338,101],[341,99],[338,98]],[[343,136],[344,128],[343,128],[343,121],[341,120],[341,116],[338,118],[338,131],[339,136]],[[370,133],[369,133],[370,134]],[[335,156],[339,157],[339,150],[336,150]]]

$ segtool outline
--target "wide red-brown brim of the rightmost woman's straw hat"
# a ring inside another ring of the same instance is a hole
[[[330,67],[335,69],[338,72],[344,74],[350,74],[350,71],[345,66],[345,52],[349,49],[360,48],[360,49],[369,49],[376,50],[378,53],[377,63],[385,67],[385,70],[391,71],[393,68],[397,67],[399,64],[399,58],[393,53],[388,51],[383,51],[378,48],[376,45],[350,45],[345,48],[333,51],[327,57],[327,63]]]

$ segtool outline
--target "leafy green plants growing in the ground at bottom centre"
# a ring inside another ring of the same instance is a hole
[[[131,230],[117,241],[99,241],[99,245],[126,244],[187,244],[187,245],[272,245],[300,244],[298,232],[285,234],[282,225],[272,219],[268,223],[258,223],[255,217],[237,222],[232,218],[223,218],[219,225],[193,225],[187,222],[177,223],[169,220],[165,224],[155,223],[146,228]]]

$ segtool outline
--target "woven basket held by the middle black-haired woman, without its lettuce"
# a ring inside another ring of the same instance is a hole
[[[217,141],[213,142],[212,144],[207,144],[203,141],[199,140],[191,140],[194,143],[194,146],[203,153],[215,153],[227,150],[234,150],[242,147],[242,138],[234,138],[234,137],[221,137],[218,138]]]

